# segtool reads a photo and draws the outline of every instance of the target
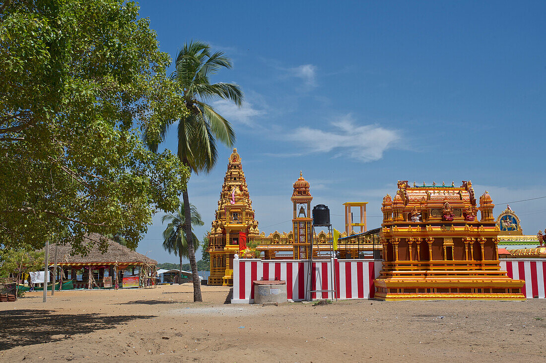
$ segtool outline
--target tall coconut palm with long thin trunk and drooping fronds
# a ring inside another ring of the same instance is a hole
[[[210,83],[211,75],[216,74],[221,68],[232,68],[232,63],[223,52],[211,54],[210,46],[201,41],[190,41],[183,45],[176,56],[175,68],[171,79],[176,81],[189,111],[189,115],[178,122],[178,156],[195,174],[201,171],[209,172],[218,157],[216,140],[231,147],[235,144],[235,132],[229,121],[206,102],[222,98],[241,106],[243,94],[238,85]],[[159,142],[164,140],[168,128],[169,123],[165,123],[160,130]],[[157,151],[159,142],[149,142],[147,133],[144,133],[144,140],[150,150]],[[182,191],[182,199],[184,205],[189,205],[187,187]],[[185,220],[189,221],[191,218],[189,209],[185,213]],[[203,301],[197,276],[191,223],[186,223],[184,228],[188,240],[189,264],[193,273],[193,301]]]

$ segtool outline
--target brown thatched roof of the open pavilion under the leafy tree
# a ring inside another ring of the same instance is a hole
[[[72,245],[58,245],[57,264],[59,266],[105,266],[105,265],[157,265],[157,261],[108,239],[108,250],[102,253],[98,248],[102,236],[92,234],[87,239],[97,243],[85,256],[72,254]],[[49,265],[54,265],[55,245],[49,245]]]

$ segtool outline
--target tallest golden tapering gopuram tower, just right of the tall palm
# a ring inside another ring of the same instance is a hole
[[[233,285],[233,258],[239,253],[239,233],[246,234],[247,243],[259,235],[245,172],[236,148],[228,161],[216,218],[209,233],[209,285]]]

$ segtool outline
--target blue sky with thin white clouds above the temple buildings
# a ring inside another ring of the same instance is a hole
[[[241,109],[214,105],[237,133],[260,230],[289,231],[302,170],[314,204],[343,229],[345,201],[368,201],[370,228],[397,180],[489,191],[509,201],[546,196],[545,2],[141,1],[162,51],[204,40],[233,59],[215,81],[245,92]],[[165,142],[175,150],[175,135]],[[231,150],[193,175],[204,235]],[[511,204],[524,233],[546,228],[546,198]],[[138,251],[161,247],[161,213]],[[198,252],[198,259],[200,251]]]

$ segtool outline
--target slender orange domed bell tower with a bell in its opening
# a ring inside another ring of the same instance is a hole
[[[294,214],[292,217],[292,227],[294,231],[294,259],[308,259],[311,254],[311,239],[313,237],[311,227],[313,218],[311,218],[311,200],[313,197],[309,192],[309,182],[303,177],[300,171],[300,177],[294,183],[294,193],[292,193],[292,203],[294,204]]]

